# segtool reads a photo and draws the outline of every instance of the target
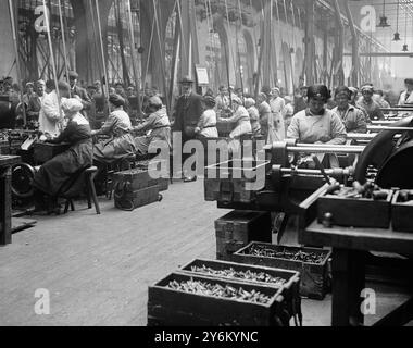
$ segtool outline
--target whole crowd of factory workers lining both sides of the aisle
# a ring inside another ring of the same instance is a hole
[[[255,100],[242,89],[226,86],[220,87],[217,96],[211,90],[200,96],[195,91],[195,82],[184,77],[182,95],[171,115],[161,98],[152,95],[146,102],[146,120],[133,126],[127,96],[113,89],[108,98],[109,116],[99,129],[92,129],[87,115],[93,104],[92,96],[77,86],[77,78],[76,72],[70,72],[70,83],[59,82],[57,88],[39,80],[27,86],[24,95],[27,114],[39,123],[43,134],[41,140],[71,146],[35,175],[33,186],[39,212],[57,209],[57,198],[64,190],[72,190],[74,177],[93,163],[104,167],[126,157],[147,154],[151,146],[171,148],[171,130],[182,134],[183,145],[196,138],[217,138],[218,123],[233,125],[229,139],[252,135],[263,137],[267,144],[292,138],[306,144],[341,145],[347,133],[365,133],[372,120],[383,120],[381,109],[389,107],[383,94],[375,95],[372,84],[363,85],[360,91],[340,86],[334,98],[324,85],[302,87],[295,98],[283,98],[278,87],[263,88]],[[400,105],[413,103],[413,79],[406,79],[405,86]],[[109,137],[99,139],[103,135]],[[182,156],[184,161],[188,157]],[[326,165],[338,164],[330,161]],[[185,173],[183,178],[196,179]]]

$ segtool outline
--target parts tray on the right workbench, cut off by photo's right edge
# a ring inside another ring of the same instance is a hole
[[[398,190],[391,201],[391,226],[398,232],[413,232],[413,190]]]

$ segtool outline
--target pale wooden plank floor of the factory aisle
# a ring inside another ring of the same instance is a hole
[[[195,258],[214,259],[214,221],[226,213],[203,200],[202,181],[175,183],[161,203],[134,212],[104,199],[101,208],[99,216],[39,217],[0,248],[0,325],[146,325],[148,285]],[[406,298],[372,287],[377,316]],[[50,315],[35,313],[40,288],[50,291]],[[304,299],[304,325],[329,325],[330,299]]]

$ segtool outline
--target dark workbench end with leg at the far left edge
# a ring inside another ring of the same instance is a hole
[[[18,156],[0,156],[0,246],[12,243],[12,166],[21,161]]]

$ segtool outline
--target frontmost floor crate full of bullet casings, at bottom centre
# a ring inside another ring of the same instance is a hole
[[[283,288],[172,273],[148,289],[149,326],[288,326]]]

